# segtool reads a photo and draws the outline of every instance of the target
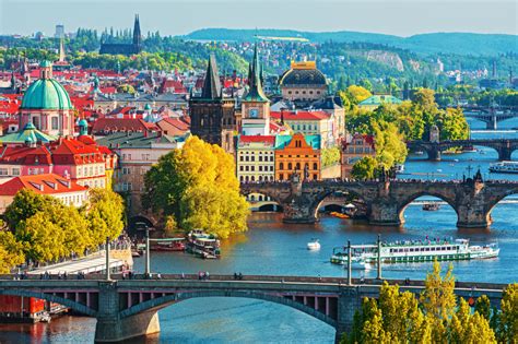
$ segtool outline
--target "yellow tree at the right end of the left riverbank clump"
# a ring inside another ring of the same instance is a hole
[[[125,227],[125,204],[122,198],[107,189],[92,189],[89,204],[83,207],[89,222],[89,230],[94,245],[116,239]]]

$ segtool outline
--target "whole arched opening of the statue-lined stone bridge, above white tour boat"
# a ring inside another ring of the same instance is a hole
[[[449,200],[439,194],[417,193],[403,201],[398,217],[407,227],[455,227],[457,211]]]

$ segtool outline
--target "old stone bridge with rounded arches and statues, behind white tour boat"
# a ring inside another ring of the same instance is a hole
[[[278,202],[286,223],[315,223],[326,198],[352,194],[366,207],[373,225],[400,226],[405,207],[422,195],[437,197],[451,205],[460,228],[488,228],[491,211],[504,198],[518,193],[518,182],[483,181],[480,173],[466,181],[297,181],[242,183],[243,194],[261,193]]]

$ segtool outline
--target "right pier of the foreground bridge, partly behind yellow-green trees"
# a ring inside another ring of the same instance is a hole
[[[362,308],[360,287],[348,287],[340,292],[338,298],[338,319],[334,343],[340,343],[342,336],[350,333],[354,324],[354,313]]]

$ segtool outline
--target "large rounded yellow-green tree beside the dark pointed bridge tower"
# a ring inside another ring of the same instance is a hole
[[[234,169],[223,149],[189,138],[146,174],[143,204],[163,218],[174,216],[186,230],[202,228],[222,238],[246,230],[249,210]]]

